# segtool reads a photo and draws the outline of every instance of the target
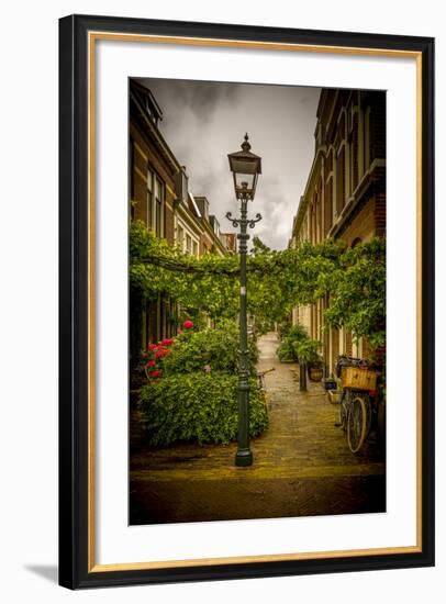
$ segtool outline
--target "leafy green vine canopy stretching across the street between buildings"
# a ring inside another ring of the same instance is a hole
[[[355,248],[341,242],[271,250],[258,237],[247,257],[248,312],[259,322],[283,321],[299,305],[328,297],[328,326],[345,326],[373,346],[386,338],[386,244],[373,238]],[[238,314],[237,255],[200,258],[157,238],[143,222],[130,227],[131,289],[147,300],[167,295],[211,318]]]

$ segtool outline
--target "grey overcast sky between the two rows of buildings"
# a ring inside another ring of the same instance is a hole
[[[234,231],[225,213],[237,213],[227,154],[241,149],[245,132],[261,157],[256,198],[260,212],[252,235],[283,249],[314,156],[320,88],[199,82],[145,78],[163,110],[159,128],[181,165],[189,189],[205,195],[222,232]]]

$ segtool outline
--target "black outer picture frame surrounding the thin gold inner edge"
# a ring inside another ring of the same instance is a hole
[[[96,571],[89,567],[88,34],[413,52],[422,66],[422,514],[420,551]],[[59,583],[69,589],[428,567],[434,564],[434,40],[145,19],[59,21]]]

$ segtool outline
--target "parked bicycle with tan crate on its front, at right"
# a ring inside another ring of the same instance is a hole
[[[348,448],[357,454],[370,433],[376,413],[372,403],[378,371],[365,359],[342,355],[336,362],[336,374],[342,385],[336,425],[347,433]]]

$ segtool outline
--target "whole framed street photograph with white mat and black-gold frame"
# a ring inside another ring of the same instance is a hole
[[[59,22],[59,583],[434,564],[434,41]]]

